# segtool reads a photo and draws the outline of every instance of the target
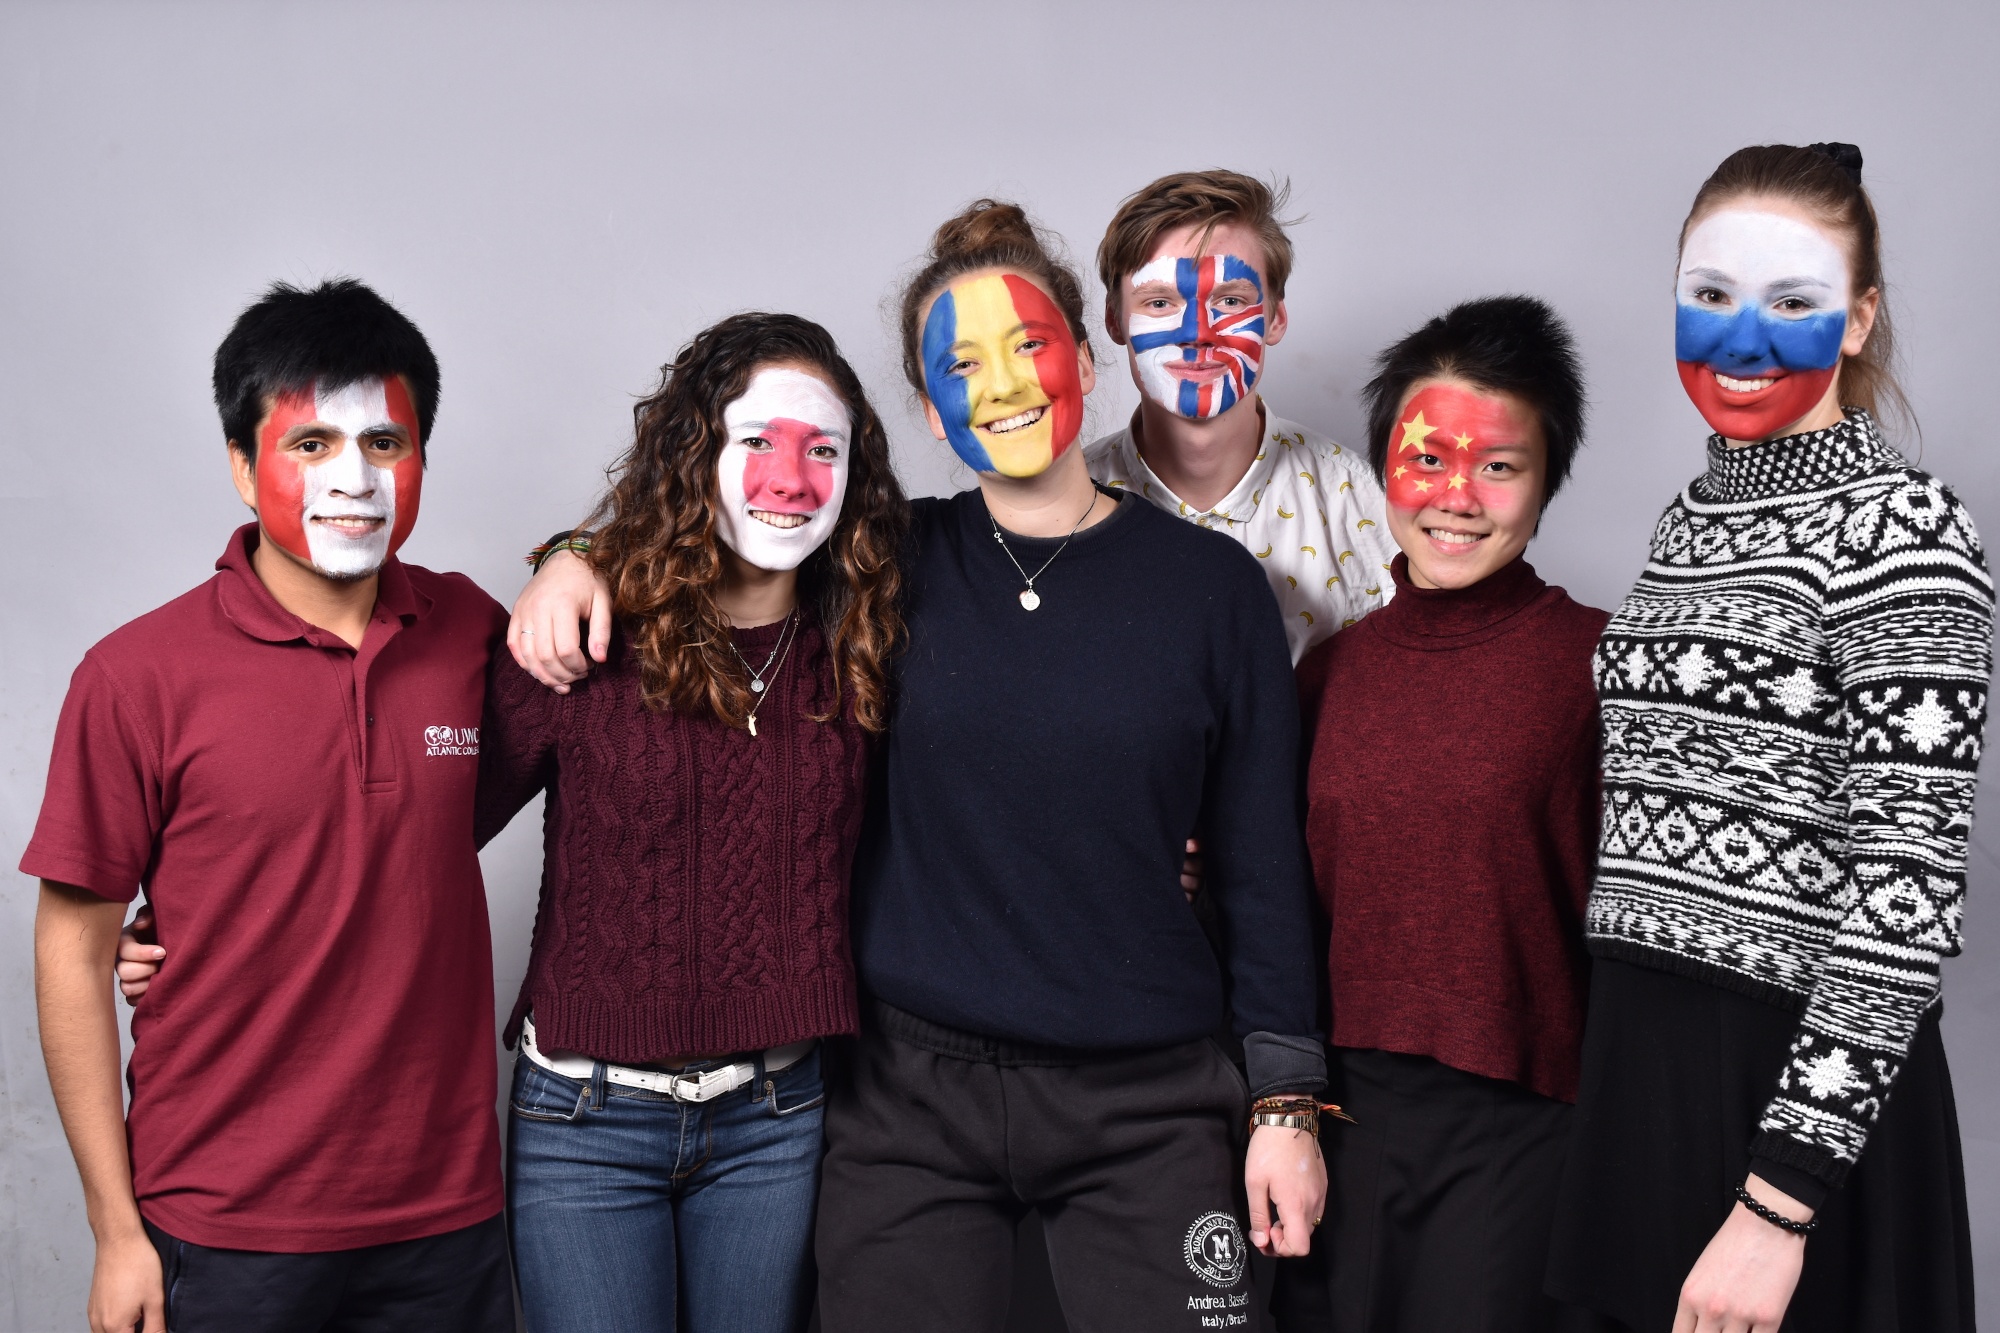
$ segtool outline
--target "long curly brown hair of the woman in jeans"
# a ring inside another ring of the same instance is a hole
[[[698,332],[660,368],[660,386],[632,408],[634,438],[590,514],[590,564],[612,588],[612,610],[640,656],[648,709],[708,711],[744,727],[750,679],[730,652],[716,606],[716,460],[728,442],[722,408],[762,366],[826,376],[854,414],[840,522],[798,568],[800,606],[818,612],[834,656],[834,713],[850,699],[868,731],[888,725],[888,662],[902,644],[902,570],[910,502],[890,468],[888,434],[832,334],[796,314],[732,314]]]

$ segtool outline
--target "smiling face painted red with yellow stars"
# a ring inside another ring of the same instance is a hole
[[[1534,408],[1454,378],[1418,380],[1388,440],[1388,528],[1420,588],[1466,588],[1528,548],[1548,446]]]

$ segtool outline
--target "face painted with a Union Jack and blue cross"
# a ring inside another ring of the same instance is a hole
[[[1162,236],[1122,292],[1122,342],[1140,392],[1190,420],[1250,400],[1264,346],[1284,336],[1284,304],[1266,302],[1264,288],[1264,250],[1250,228],[1222,222]]]

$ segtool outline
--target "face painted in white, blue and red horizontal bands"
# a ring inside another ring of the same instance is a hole
[[[1728,208],[1688,232],[1674,284],[1674,360],[1702,418],[1766,440],[1804,416],[1840,368],[1848,260],[1820,228]]]

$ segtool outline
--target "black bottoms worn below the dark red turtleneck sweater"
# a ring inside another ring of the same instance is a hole
[[[1280,1333],[1602,1329],[1542,1295],[1570,1105],[1422,1055],[1334,1053],[1326,1221],[1282,1259]]]

